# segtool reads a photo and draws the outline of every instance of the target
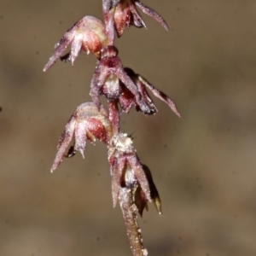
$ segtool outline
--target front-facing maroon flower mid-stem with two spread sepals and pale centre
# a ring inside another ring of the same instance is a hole
[[[125,73],[124,67],[119,60],[118,50],[114,46],[102,49],[102,58],[98,61],[96,71],[90,83],[90,96],[96,106],[100,106],[99,96],[106,96],[109,101],[119,99],[122,95],[122,88],[119,81],[127,90],[131,91],[133,101],[136,102],[143,113],[154,113],[152,105],[144,101],[143,96],[134,84],[132,79]]]

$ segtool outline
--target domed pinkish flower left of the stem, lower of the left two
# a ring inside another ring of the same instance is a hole
[[[87,140],[95,143],[96,139],[98,139],[102,143],[108,143],[108,140],[112,137],[112,126],[108,120],[108,111],[103,107],[98,110],[93,102],[83,103],[75,110],[61,134],[51,172],[55,171],[61,164],[61,160],[73,137],[75,143],[72,150],[70,150],[71,152],[68,152],[68,157],[79,151],[84,158]]]

